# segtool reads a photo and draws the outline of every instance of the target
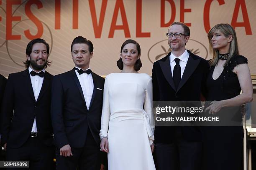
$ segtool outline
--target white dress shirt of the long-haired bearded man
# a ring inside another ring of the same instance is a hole
[[[28,71],[31,72],[32,68],[28,67]],[[42,71],[45,72],[45,70],[42,70]],[[29,75],[30,75],[31,84],[32,84],[32,87],[33,87],[34,96],[35,96],[35,99],[37,100],[38,95],[39,95],[40,90],[41,90],[41,87],[43,85],[44,77],[40,77],[39,75],[35,75],[35,76],[32,76],[31,74],[29,74]],[[34,119],[31,132],[37,133],[36,117]]]

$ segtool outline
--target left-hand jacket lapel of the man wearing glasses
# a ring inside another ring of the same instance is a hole
[[[170,65],[170,55],[171,52],[166,56],[165,61],[159,61],[159,65],[161,67],[162,72],[164,73],[164,77],[166,80],[169,82],[169,84],[172,86],[174,90],[176,90],[173,77],[172,77],[172,70],[171,70],[171,65]]]

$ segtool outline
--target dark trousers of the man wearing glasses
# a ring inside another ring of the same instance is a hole
[[[180,127],[179,127],[180,128]],[[157,170],[200,170],[202,143],[188,142],[177,128],[174,143],[158,143],[155,148]]]

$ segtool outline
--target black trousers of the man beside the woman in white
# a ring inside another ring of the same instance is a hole
[[[56,152],[57,170],[100,170],[101,152],[92,137],[90,130],[87,132],[87,139],[83,148],[71,148],[73,156],[64,157]]]

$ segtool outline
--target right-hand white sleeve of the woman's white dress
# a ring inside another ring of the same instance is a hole
[[[154,134],[154,115],[153,115],[153,87],[152,87],[152,78],[148,80],[146,86],[146,95],[144,100],[144,110],[148,115],[148,124],[151,125],[152,133]]]

